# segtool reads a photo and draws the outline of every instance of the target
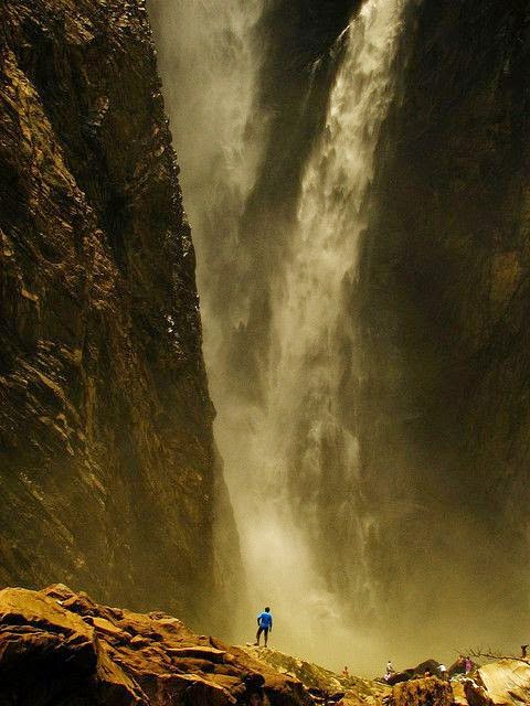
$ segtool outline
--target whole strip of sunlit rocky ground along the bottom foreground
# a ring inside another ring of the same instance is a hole
[[[98,606],[61,584],[0,591],[0,706],[494,706],[530,704],[530,665],[393,687],[275,650],[229,646],[163,612]]]

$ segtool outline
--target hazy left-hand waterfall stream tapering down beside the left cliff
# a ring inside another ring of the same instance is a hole
[[[151,0],[157,15],[159,66],[193,228],[210,386],[222,371],[211,364],[223,323],[246,317],[243,302],[218,315],[219,280],[237,250],[239,221],[262,156],[265,116],[256,110],[261,58],[254,28],[263,0]],[[215,392],[213,393],[215,399]],[[218,400],[216,400],[218,402]]]

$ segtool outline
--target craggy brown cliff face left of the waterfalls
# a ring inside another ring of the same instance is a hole
[[[222,479],[144,3],[0,21],[0,582],[195,619]]]

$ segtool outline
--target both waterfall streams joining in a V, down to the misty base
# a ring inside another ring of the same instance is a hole
[[[347,298],[357,278],[379,130],[393,95],[404,3],[367,0],[338,40],[346,46],[326,124],[305,168],[297,217],[283,233],[282,266],[268,281],[259,402],[237,394],[241,383],[222,351],[233,347],[248,320],[246,293],[237,299],[237,288],[223,282],[255,268],[247,266],[253,253],[239,234],[259,170],[256,145],[267,133],[256,115],[259,56],[252,39],[262,8],[218,0],[216,11],[191,1],[171,11],[161,2],[159,10],[165,51],[172,32],[179,38],[176,55],[162,55],[161,65],[166,86],[174,85],[169,106],[198,247],[215,431],[251,596],[256,610],[273,607],[276,646],[332,666],[354,654],[357,668],[373,666],[378,650],[352,611],[344,618],[347,592],[350,602],[368,600],[363,545],[370,523],[358,480],[356,400],[347,392],[356,375]],[[252,281],[242,291],[248,289]]]

